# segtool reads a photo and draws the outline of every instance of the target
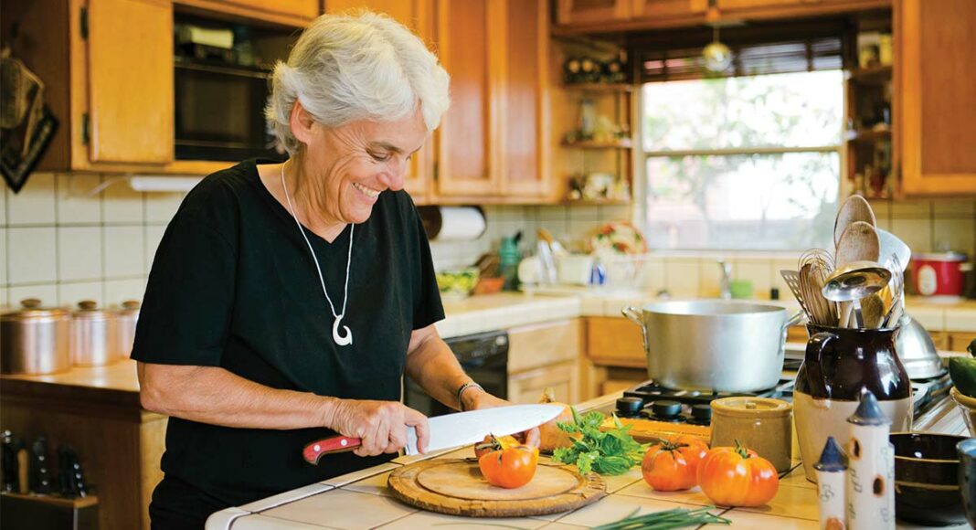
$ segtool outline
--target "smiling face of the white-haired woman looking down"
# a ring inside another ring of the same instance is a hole
[[[311,126],[305,143],[305,192],[327,221],[364,223],[380,193],[403,188],[410,157],[427,139],[418,107],[406,118]]]

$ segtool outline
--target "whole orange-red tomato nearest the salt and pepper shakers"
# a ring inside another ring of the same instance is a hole
[[[720,506],[757,507],[780,488],[780,476],[768,460],[736,444],[716,447],[698,465],[702,492]]]

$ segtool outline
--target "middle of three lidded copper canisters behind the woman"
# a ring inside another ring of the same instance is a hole
[[[119,360],[118,317],[91,300],[78,303],[71,314],[71,362],[103,366]]]

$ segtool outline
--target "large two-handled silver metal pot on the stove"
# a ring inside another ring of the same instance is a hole
[[[787,310],[746,302],[666,301],[624,315],[641,326],[647,375],[671,388],[750,392],[775,387],[783,371]]]

